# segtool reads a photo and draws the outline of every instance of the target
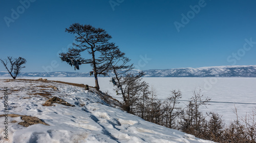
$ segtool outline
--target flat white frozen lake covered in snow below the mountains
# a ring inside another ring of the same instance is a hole
[[[38,79],[31,77],[26,79]],[[48,80],[60,80],[66,82],[83,83],[95,86],[93,77],[47,77]],[[116,96],[113,84],[109,77],[99,77],[100,90],[108,91],[111,96],[122,100]],[[166,99],[170,91],[180,90],[182,100],[189,100],[193,96],[193,91],[202,90],[204,97],[211,98],[211,105],[208,108],[201,108],[203,111],[214,111],[223,115],[222,119],[226,123],[236,119],[233,113],[234,106],[238,108],[239,116],[245,116],[246,112],[251,113],[256,106],[256,78],[244,77],[143,77],[157,91],[158,99]],[[187,101],[181,101],[185,104]]]

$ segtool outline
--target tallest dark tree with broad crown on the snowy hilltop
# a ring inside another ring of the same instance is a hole
[[[95,88],[99,89],[98,75],[106,75],[110,71],[111,61],[105,58],[105,54],[108,54],[105,51],[117,47],[115,43],[109,42],[112,37],[102,28],[79,23],[70,25],[69,28],[66,28],[66,32],[75,35],[75,42],[73,43],[74,47],[69,48],[67,53],[60,53],[61,60],[78,70],[79,65],[90,64],[94,72]],[[87,51],[91,58],[82,58],[83,51]]]

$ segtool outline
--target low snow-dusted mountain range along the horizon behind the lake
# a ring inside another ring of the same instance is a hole
[[[138,73],[140,70],[133,70]],[[145,70],[144,77],[256,77],[256,66],[219,66],[202,68],[178,68],[165,70]],[[114,76],[112,73],[110,76]],[[10,77],[8,72],[0,72],[0,77]],[[22,72],[18,77],[92,77],[82,72]],[[102,76],[100,76],[102,77]]]

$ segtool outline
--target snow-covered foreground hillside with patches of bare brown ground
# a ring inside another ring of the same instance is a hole
[[[37,117],[50,126],[23,127],[18,125],[23,121],[20,117],[9,117],[7,141],[3,134],[5,119],[1,117],[0,142],[211,142],[146,122],[111,107],[94,89],[86,92],[81,87],[53,81],[6,81],[0,79],[0,97],[4,96],[3,89],[7,87],[9,114]],[[55,106],[42,106],[47,97],[53,96],[75,106],[56,103]],[[3,98],[0,104],[0,115],[3,115]]]

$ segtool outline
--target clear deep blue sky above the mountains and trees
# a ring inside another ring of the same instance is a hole
[[[77,22],[106,30],[136,69],[256,65],[255,6],[254,0],[2,0],[0,58],[22,56],[23,72],[74,71],[58,53],[74,40],[65,28]]]

